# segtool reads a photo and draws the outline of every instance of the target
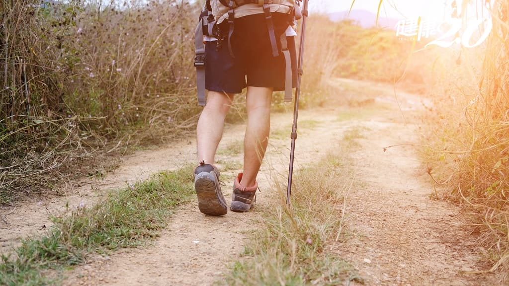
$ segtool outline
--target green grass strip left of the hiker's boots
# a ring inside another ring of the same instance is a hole
[[[112,191],[99,204],[77,207],[41,238],[29,238],[2,255],[1,285],[47,285],[45,269],[81,264],[89,253],[105,253],[157,237],[176,206],[192,198],[192,167],[162,172],[145,182]]]

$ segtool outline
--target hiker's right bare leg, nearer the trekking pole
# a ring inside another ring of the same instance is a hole
[[[244,174],[240,184],[252,187],[267,149],[272,88],[247,87],[247,127],[244,137]]]

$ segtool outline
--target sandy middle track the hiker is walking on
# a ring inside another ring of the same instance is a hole
[[[300,132],[296,167],[318,161],[328,149],[330,142],[341,139],[344,124],[335,121],[335,113],[321,115],[317,111],[301,113],[304,125],[313,125],[313,130]],[[315,121],[320,118],[320,121]],[[333,122],[334,128],[326,128],[325,123]],[[161,236],[147,247],[126,249],[110,257],[98,257],[78,267],[69,275],[64,285],[209,285],[221,278],[228,267],[240,256],[244,245],[249,243],[250,234],[260,225],[262,213],[269,211],[277,194],[274,178],[288,172],[289,132],[292,115],[279,114],[272,118],[272,138],[266,160],[262,165],[258,181],[262,192],[257,194],[257,207],[249,213],[229,212],[223,217],[211,217],[200,213],[196,203],[184,206],[170,219],[169,225]],[[284,133],[284,136],[283,134]],[[219,151],[227,149],[243,138],[244,126],[230,126],[225,130]],[[317,137],[323,140],[316,141]],[[185,156],[174,159],[178,163],[194,162],[195,144],[181,151]],[[169,151],[169,150],[166,150]],[[137,158],[143,161],[155,161],[161,158],[165,150],[144,153]],[[227,154],[224,154],[227,153]],[[222,155],[221,155],[222,154]],[[216,160],[218,167],[224,164],[241,166],[240,154],[219,152]],[[130,160],[131,161],[131,160]],[[167,165],[152,166],[153,170],[168,169]],[[135,168],[123,168],[125,170]],[[223,171],[221,180],[228,182],[222,187],[227,202],[231,201],[231,185],[239,169]],[[117,172],[119,173],[119,172]],[[115,176],[115,175],[114,175]]]

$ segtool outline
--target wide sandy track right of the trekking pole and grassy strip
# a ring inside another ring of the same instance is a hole
[[[347,203],[352,236],[338,253],[366,285],[499,284],[494,275],[474,273],[483,268],[476,238],[458,226],[466,219],[460,208],[431,199],[434,189],[416,150],[407,145],[384,152],[418,142],[415,114],[430,104],[398,94],[399,107],[394,97],[380,96],[387,109],[359,122],[360,146],[352,154],[359,183]]]

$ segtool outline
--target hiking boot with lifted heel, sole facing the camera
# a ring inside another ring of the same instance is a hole
[[[219,185],[219,170],[200,162],[194,169],[194,190],[198,196],[198,208],[207,215],[225,215],[228,207]]]

